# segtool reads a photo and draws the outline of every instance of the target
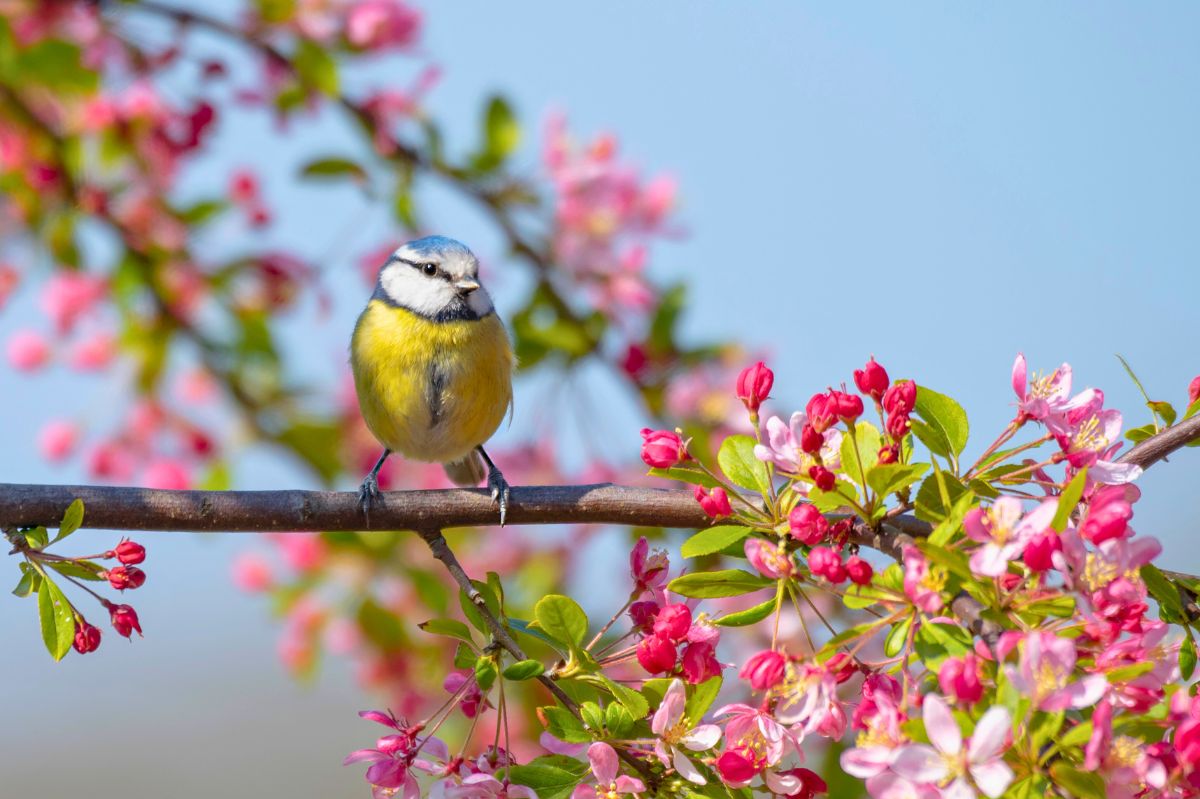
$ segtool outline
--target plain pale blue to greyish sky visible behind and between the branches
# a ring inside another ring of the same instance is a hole
[[[624,158],[678,180],[683,229],[658,247],[652,269],[689,283],[688,337],[737,340],[769,356],[782,413],[848,382],[874,354],[894,377],[961,401],[970,455],[1010,417],[1018,352],[1043,370],[1069,360],[1080,388],[1103,388],[1129,426],[1150,416],[1117,353],[1154,398],[1180,407],[1200,371],[1194,5],[527,2],[424,12],[420,47],[443,68],[425,103],[450,140],[466,140],[480,98],[503,91],[527,124],[517,154],[526,173],[539,170],[539,120],[558,109],[581,136],[613,132]],[[229,58],[236,70],[241,56]],[[373,70],[365,79],[413,74],[407,64]],[[258,170],[275,222],[254,235],[319,260],[331,295],[328,312],[307,308],[287,324],[286,358],[330,383],[370,290],[359,257],[386,233],[354,188],[295,181],[296,163],[343,144],[353,142],[332,115],[295,120],[284,138],[268,114],[246,110],[223,121],[182,184],[220,192],[230,170]],[[481,253],[499,310],[511,313],[523,278],[506,270],[494,233],[449,193],[430,190],[422,202],[439,232]],[[214,246],[238,235],[250,234],[222,233]],[[36,286],[10,300],[0,340],[36,324]],[[50,417],[114,411],[128,402],[125,384],[2,370],[0,480],[85,481],[77,463],[48,464],[34,433]],[[635,456],[638,403],[602,374],[583,379],[590,407],[556,410],[571,420],[563,434],[590,427],[613,457]],[[522,383],[502,444],[538,432],[530,409],[547,383]],[[1163,540],[1165,564],[1195,572],[1200,455],[1172,461],[1140,483],[1135,524]],[[253,446],[239,452],[234,480],[314,485]],[[98,546],[113,537],[83,536]],[[0,597],[0,797],[365,795],[360,769],[340,759],[373,735],[354,716],[373,702],[337,659],[304,684],[288,677],[278,625],[229,577],[247,536],[143,539],[146,637],[131,645],[108,636],[94,655],[55,665],[31,603]],[[600,563],[619,572],[623,552],[604,541]],[[601,591],[589,602],[611,607]]]

